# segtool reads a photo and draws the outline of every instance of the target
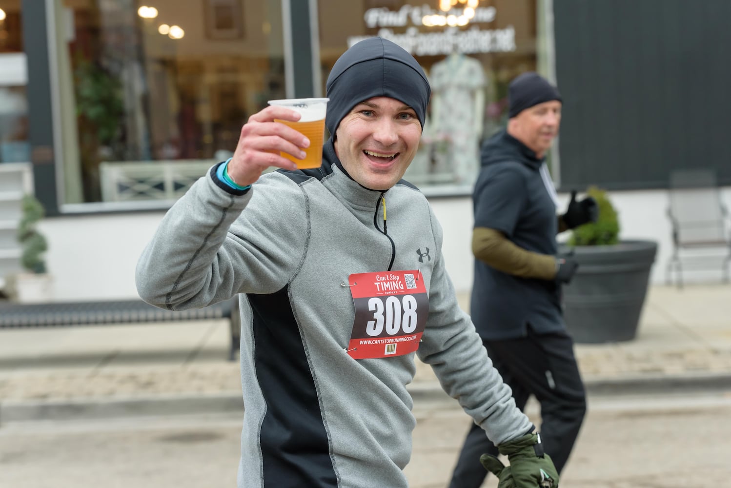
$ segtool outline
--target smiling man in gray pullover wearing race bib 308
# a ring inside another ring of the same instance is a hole
[[[302,158],[309,141],[274,121],[297,113],[266,107],[140,257],[137,289],[161,308],[240,294],[240,488],[406,487],[414,352],[504,454],[530,446],[511,457],[510,486],[558,482],[458,306],[427,199],[401,180],[429,95],[409,53],[359,42],[327,80],[322,167],[298,170],[279,155]],[[270,166],[281,169],[262,175]],[[518,465],[529,481],[517,480]]]

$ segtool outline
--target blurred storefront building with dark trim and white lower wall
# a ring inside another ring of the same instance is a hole
[[[0,234],[34,191],[56,300],[135,297],[164,210],[227,158],[249,115],[324,96],[338,56],[378,35],[433,84],[406,178],[444,226],[458,290],[471,286],[480,142],[504,126],[507,84],[526,71],[564,96],[550,154],[561,197],[609,190],[622,237],[659,242],[662,281],[670,171],[711,168],[731,184],[728,18],[727,0],[0,0],[0,178],[24,182],[0,184]],[[3,259],[10,272],[16,254]]]

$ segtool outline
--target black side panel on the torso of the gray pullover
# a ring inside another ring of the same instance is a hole
[[[247,295],[254,314],[254,363],[267,404],[260,432],[264,487],[337,488],[325,422],[288,291],[285,286],[273,294]]]

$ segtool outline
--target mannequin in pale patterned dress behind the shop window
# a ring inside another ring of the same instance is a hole
[[[439,173],[474,183],[480,168],[480,136],[485,113],[485,73],[477,59],[453,50],[431,68],[431,131]]]

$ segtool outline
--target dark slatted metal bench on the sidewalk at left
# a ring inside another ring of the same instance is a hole
[[[232,361],[236,357],[240,338],[241,318],[238,311],[238,297],[205,308],[192,308],[179,312],[163,310],[142,300],[39,304],[0,301],[0,329],[103,326],[212,319],[229,319],[230,321],[231,346],[228,359]]]

